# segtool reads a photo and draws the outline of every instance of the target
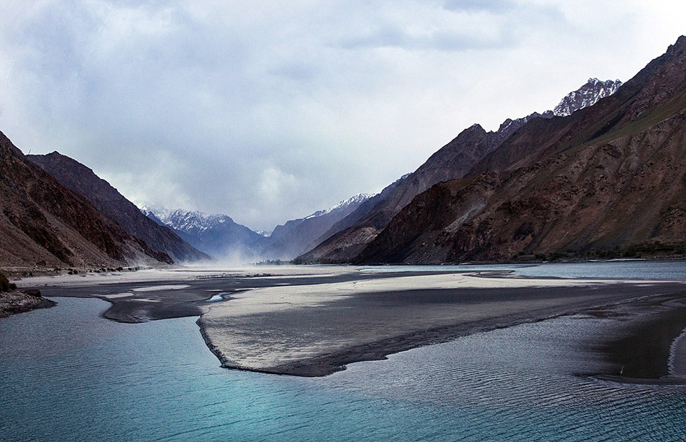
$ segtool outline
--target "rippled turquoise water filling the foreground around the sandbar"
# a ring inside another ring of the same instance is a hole
[[[191,318],[58,299],[0,321],[2,441],[683,441],[686,388],[606,383],[602,320],[559,318],[325,378],[221,369]]]

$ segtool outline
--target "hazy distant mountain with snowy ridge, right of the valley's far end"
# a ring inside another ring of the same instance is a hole
[[[358,194],[331,208],[276,226],[269,236],[255,244],[255,248],[263,259],[293,259],[314,248],[319,243],[318,238],[370,197],[370,194]]]

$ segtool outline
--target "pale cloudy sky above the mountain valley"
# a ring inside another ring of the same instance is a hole
[[[474,123],[626,81],[686,3],[0,0],[0,131],[135,204],[271,230],[414,171]]]

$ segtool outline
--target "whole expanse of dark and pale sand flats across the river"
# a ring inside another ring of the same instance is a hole
[[[307,266],[260,275],[172,274],[157,280],[40,288],[48,297],[105,299],[112,306],[104,316],[120,322],[200,316],[202,336],[223,366],[265,373],[325,376],[352,362],[572,314],[607,318],[611,325],[611,336],[598,336],[596,348],[589,349],[617,362],[617,373],[605,375],[619,376],[622,366],[631,365],[624,361],[637,358],[654,364],[645,369],[641,363],[622,376],[660,378],[668,371],[656,366],[683,364],[683,358],[670,359],[669,351],[686,327],[679,322],[686,316],[686,285],[680,282]],[[216,300],[218,294],[222,300]],[[655,327],[664,318],[675,318],[666,334]],[[631,336],[652,336],[645,347],[658,345],[666,353],[634,356],[631,345],[622,343],[624,338],[630,343]]]

